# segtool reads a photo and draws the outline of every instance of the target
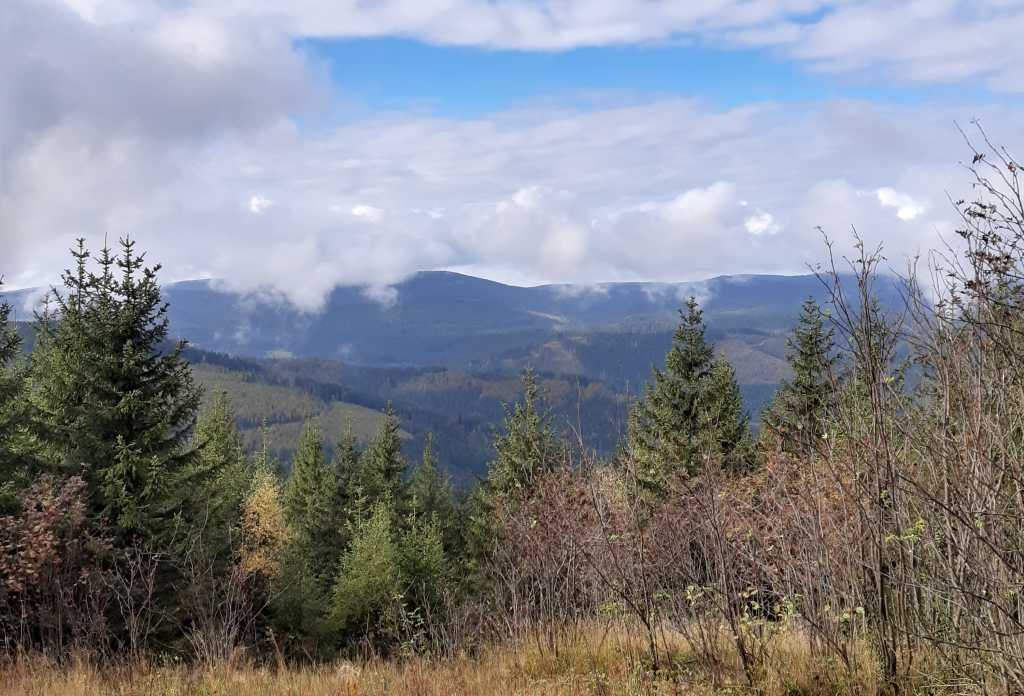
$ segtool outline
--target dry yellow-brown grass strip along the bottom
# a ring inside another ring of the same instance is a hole
[[[653,676],[642,640],[622,626],[589,626],[565,635],[557,650],[541,637],[485,650],[477,658],[412,657],[341,661],[276,671],[257,666],[205,670],[183,665],[134,665],[97,669],[85,662],[60,667],[25,658],[0,670],[0,692],[9,696],[362,696],[385,694],[748,694],[816,696],[881,693],[866,648],[850,675],[811,655],[806,639],[791,633],[773,643],[769,665],[756,690],[745,685],[738,660],[713,673],[681,637],[663,638],[665,666]],[[666,658],[667,656],[667,658]],[[927,693],[951,693],[936,690]]]

